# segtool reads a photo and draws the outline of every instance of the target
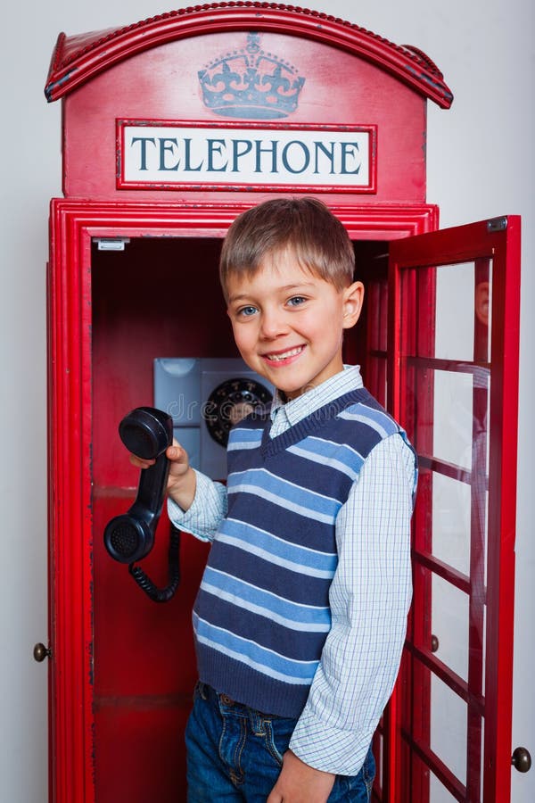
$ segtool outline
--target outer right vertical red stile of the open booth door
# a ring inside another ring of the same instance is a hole
[[[514,538],[520,326],[520,219],[510,217],[497,236],[492,260],[492,341],[496,369],[490,398],[490,533],[500,533],[490,551],[487,584],[494,621],[487,618],[485,685],[496,706],[485,720],[483,799],[503,799],[510,788],[513,708]],[[491,796],[495,795],[495,798]],[[503,797],[500,797],[502,796]]]

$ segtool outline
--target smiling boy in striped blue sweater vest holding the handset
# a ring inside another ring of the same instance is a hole
[[[169,515],[212,542],[193,609],[190,803],[370,799],[411,594],[416,468],[342,363],[364,294],[353,271],[349,236],[312,198],[245,211],[223,244],[236,345],[276,395],[231,431],[226,487],[168,450]]]

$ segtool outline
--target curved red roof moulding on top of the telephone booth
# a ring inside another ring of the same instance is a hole
[[[214,30],[275,31],[307,37],[357,55],[387,70],[426,98],[449,108],[453,95],[429,56],[323,12],[276,3],[196,5],[125,28],[67,37],[60,34],[45,87],[49,101],[69,94],[103,70],[132,55]]]

